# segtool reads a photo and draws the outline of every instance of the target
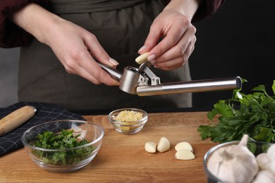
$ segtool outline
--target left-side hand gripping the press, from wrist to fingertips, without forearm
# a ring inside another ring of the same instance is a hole
[[[94,34],[66,20],[56,24],[55,27],[51,27],[51,33],[53,34],[47,35],[49,38],[47,44],[67,72],[80,75],[94,84],[119,84],[94,61],[96,58],[97,61],[111,67],[118,65],[104,51]]]

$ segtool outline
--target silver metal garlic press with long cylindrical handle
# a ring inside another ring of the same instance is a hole
[[[161,84],[159,77],[149,69],[151,66],[149,61],[142,63],[139,68],[128,66],[124,68],[123,72],[102,63],[99,63],[99,65],[106,70],[114,80],[120,82],[119,89],[128,94],[138,94],[138,96],[212,92],[240,89],[242,87],[242,80],[238,76]]]

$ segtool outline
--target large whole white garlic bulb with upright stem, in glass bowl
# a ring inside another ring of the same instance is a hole
[[[259,170],[253,153],[247,149],[248,136],[238,145],[224,146],[212,154],[208,170],[223,182],[252,182]]]

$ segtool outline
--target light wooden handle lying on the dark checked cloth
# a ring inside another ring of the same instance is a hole
[[[11,132],[35,115],[36,108],[33,106],[23,106],[13,111],[0,120],[0,136]]]

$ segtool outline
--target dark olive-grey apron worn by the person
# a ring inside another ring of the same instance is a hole
[[[109,55],[120,64],[134,66],[138,49],[144,44],[154,18],[164,1],[52,0],[50,11],[94,34]],[[190,80],[188,63],[173,71],[152,71],[164,82]],[[117,86],[92,84],[66,72],[49,46],[33,39],[20,50],[20,101],[58,103],[69,110],[111,108],[183,108],[191,106],[191,94],[138,96]]]

